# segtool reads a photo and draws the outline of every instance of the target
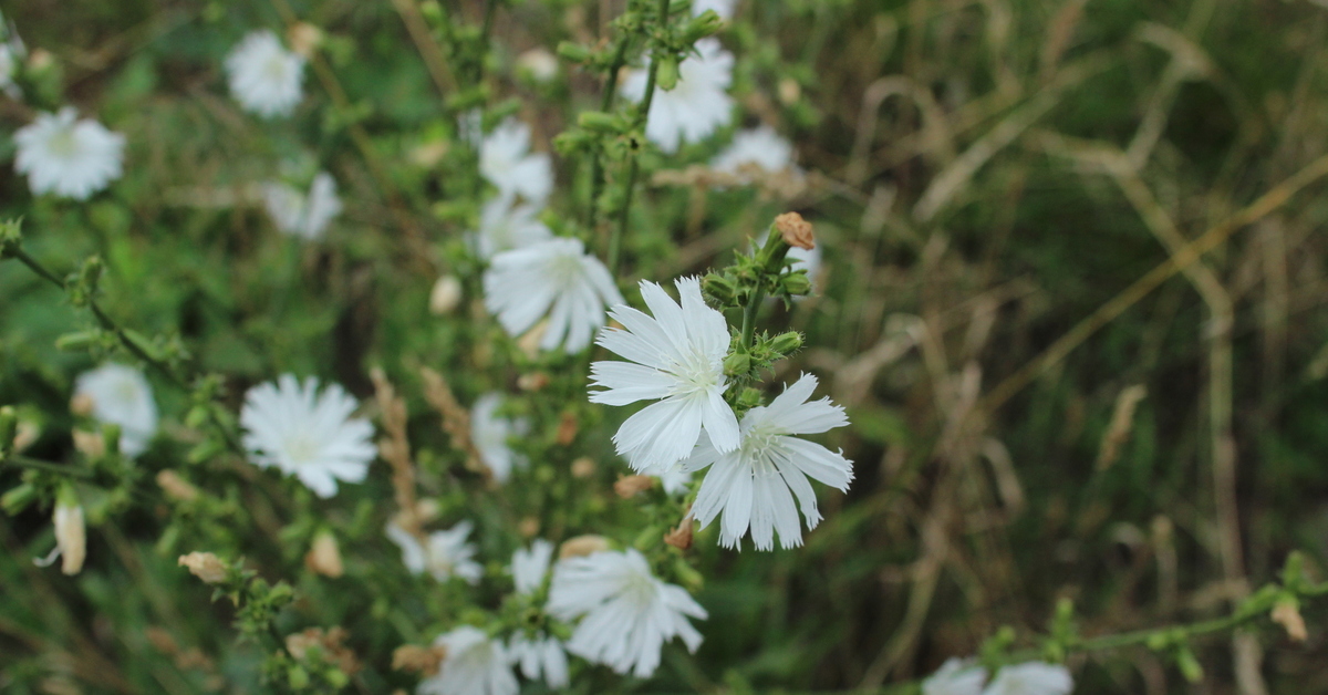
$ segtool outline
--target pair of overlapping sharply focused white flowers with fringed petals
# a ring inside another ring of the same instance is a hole
[[[724,373],[729,328],[705,304],[699,280],[676,280],[680,302],[657,284],[641,282],[652,315],[627,306],[610,312],[623,326],[600,334],[599,344],[629,361],[591,364],[591,400],[628,405],[653,400],[628,417],[614,444],[639,473],[664,476],[709,468],[692,508],[705,528],[721,517],[720,544],[737,547],[750,532],[758,550],[802,545],[801,508],[807,529],[821,521],[807,478],[846,490],[853,462],[841,453],[799,439],[849,424],[827,399],[809,401],[817,379],[802,375],[766,407],[738,421],[725,403]]]

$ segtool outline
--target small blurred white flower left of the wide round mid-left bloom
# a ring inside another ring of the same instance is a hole
[[[106,364],[84,372],[74,381],[74,395],[92,400],[98,423],[120,425],[120,452],[135,458],[157,435],[157,403],[143,372],[124,364]]]

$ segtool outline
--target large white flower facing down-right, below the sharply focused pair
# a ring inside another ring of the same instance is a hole
[[[559,561],[548,611],[563,621],[582,618],[567,651],[639,678],[655,672],[660,650],[675,637],[695,652],[701,633],[688,617],[706,617],[687,590],[651,574],[645,557],[633,549]]]

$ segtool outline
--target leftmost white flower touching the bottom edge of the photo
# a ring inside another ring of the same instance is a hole
[[[416,688],[418,695],[517,695],[521,690],[506,647],[483,630],[462,626],[438,635],[433,643],[448,655],[437,675]]]

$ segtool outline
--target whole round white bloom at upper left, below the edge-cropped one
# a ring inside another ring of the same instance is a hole
[[[86,201],[121,177],[125,136],[90,118],[76,118],[73,106],[42,112],[13,134],[19,146],[13,167],[28,174],[32,193]]]

